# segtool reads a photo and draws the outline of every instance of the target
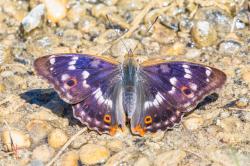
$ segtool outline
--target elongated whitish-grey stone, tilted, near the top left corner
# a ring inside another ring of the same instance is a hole
[[[40,23],[44,15],[44,4],[37,5],[29,14],[22,20],[23,28],[26,32],[35,29]]]

